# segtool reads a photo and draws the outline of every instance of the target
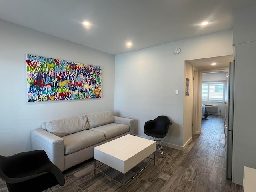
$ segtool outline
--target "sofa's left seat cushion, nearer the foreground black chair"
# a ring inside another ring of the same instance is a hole
[[[72,154],[105,140],[104,133],[84,130],[62,137],[65,155]]]

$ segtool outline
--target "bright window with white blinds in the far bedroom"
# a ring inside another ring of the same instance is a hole
[[[203,82],[202,101],[224,102],[225,82]]]

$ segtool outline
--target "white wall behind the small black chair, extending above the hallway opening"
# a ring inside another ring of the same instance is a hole
[[[177,47],[181,52],[176,55]],[[185,60],[231,54],[232,30],[227,30],[116,55],[115,112],[134,118],[135,134],[142,137],[147,137],[144,134],[147,120],[168,116],[173,125],[166,142],[182,149],[186,143],[183,138]],[[179,95],[175,95],[176,89]]]

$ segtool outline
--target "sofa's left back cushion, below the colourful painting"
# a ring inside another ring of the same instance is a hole
[[[43,128],[43,127],[42,127]],[[63,137],[89,128],[86,115],[78,115],[45,123],[48,132]]]

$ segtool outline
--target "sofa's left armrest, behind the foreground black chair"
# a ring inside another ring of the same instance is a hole
[[[32,150],[42,149],[53,164],[61,171],[65,170],[64,166],[64,140],[44,129],[35,129],[31,132]]]

